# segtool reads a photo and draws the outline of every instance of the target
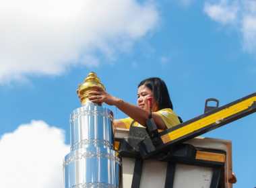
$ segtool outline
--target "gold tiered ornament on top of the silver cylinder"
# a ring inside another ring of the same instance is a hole
[[[98,85],[104,91],[106,91],[104,85],[100,83],[100,79],[97,77],[96,73],[89,73],[88,77],[84,79],[84,83],[79,85],[79,89],[77,89],[78,97],[80,98],[80,102],[84,104],[88,99],[88,97],[92,95],[88,95],[87,93],[90,91],[98,91],[98,89],[92,87],[93,85]]]

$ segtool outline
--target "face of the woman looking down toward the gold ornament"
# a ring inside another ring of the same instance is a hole
[[[138,88],[137,93],[137,105],[147,111],[150,111],[150,106],[148,105],[148,97],[153,97],[153,91],[146,87],[146,85],[141,85]],[[153,106],[152,111],[157,111],[158,107],[156,105]]]

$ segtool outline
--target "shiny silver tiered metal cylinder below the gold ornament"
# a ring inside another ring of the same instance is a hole
[[[70,115],[71,152],[63,162],[65,188],[119,187],[110,110],[86,101]]]

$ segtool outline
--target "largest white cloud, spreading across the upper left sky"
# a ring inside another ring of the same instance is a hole
[[[158,23],[154,1],[1,0],[0,83],[28,75],[61,75],[70,66],[99,66]]]

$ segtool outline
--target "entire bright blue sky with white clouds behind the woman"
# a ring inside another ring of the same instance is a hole
[[[39,188],[61,187],[69,114],[81,105],[77,85],[91,71],[108,93],[133,104],[139,82],[160,77],[183,121],[201,115],[207,98],[222,106],[256,92],[255,1],[18,2],[0,8],[5,187],[26,169],[20,185],[32,185],[30,177]],[[104,106],[115,119],[126,117]],[[203,135],[232,140],[234,187],[256,186],[255,120],[252,114]],[[25,166],[8,163],[19,158]],[[39,168],[49,176],[42,180]]]

